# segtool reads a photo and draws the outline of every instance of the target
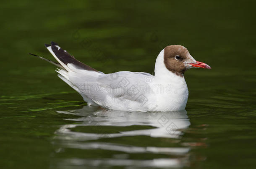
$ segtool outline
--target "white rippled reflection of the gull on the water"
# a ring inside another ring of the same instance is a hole
[[[102,150],[101,153],[107,154],[107,151],[111,151],[114,154],[107,158],[94,158],[95,156],[93,158],[78,158],[76,154],[69,154],[68,158],[54,159],[53,166],[56,168],[83,168],[85,166],[182,167],[188,165],[190,147],[178,144],[183,135],[182,129],[190,126],[185,110],[130,112],[84,106],[81,109],[57,111],[57,113],[78,117],[65,119],[74,121],[75,124],[65,124],[55,131],[53,144],[57,147],[56,153],[65,153],[65,149],[79,149],[84,150],[84,153],[86,150]],[[78,128],[84,128],[86,131],[77,131]],[[109,130],[104,130],[105,128]],[[118,131],[117,128],[122,131]],[[140,140],[136,140],[138,136],[140,136]],[[115,139],[124,138],[123,140],[125,140],[128,137],[133,137],[134,143],[144,143],[156,138],[157,143],[156,140],[152,140],[150,145],[142,144],[143,146],[141,144],[132,145],[127,141],[123,144],[120,144],[120,141],[115,143],[117,142]],[[165,146],[161,147],[162,139],[167,140],[164,141]],[[166,146],[168,141],[170,141],[170,145],[173,145],[172,147]],[[152,143],[157,146],[152,146]],[[141,156],[129,158],[130,154],[141,154]],[[145,154],[152,154],[153,158],[144,159]]]

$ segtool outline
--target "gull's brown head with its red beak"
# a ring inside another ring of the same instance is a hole
[[[206,63],[196,61],[182,45],[170,45],[164,51],[165,67],[178,76],[183,76],[186,70],[193,67],[211,69]]]

